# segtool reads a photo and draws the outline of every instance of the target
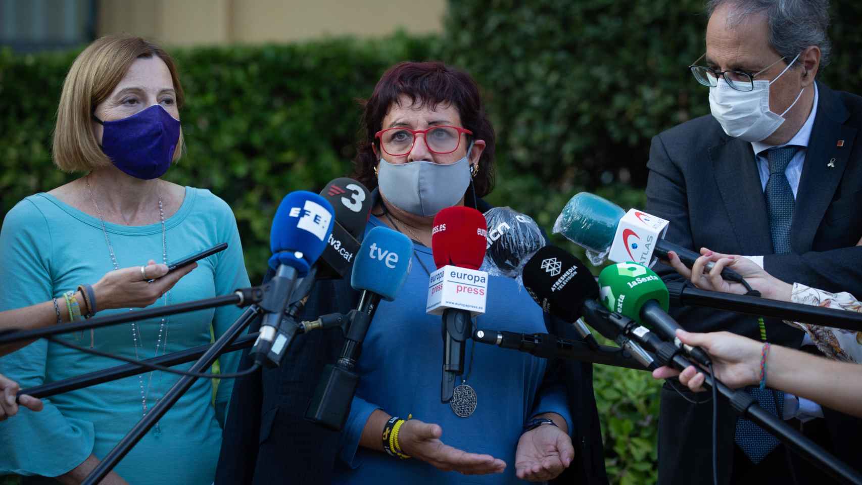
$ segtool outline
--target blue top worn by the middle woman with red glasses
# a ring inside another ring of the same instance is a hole
[[[368,229],[380,225],[372,216]],[[476,411],[459,418],[448,404],[441,404],[440,316],[425,313],[428,273],[423,266],[436,269],[431,249],[416,245],[407,281],[395,301],[380,302],[365,336],[357,364],[359,386],[341,435],[334,483],[520,483],[515,449],[524,424],[536,414],[559,413],[572,430],[565,386],[546,376],[546,359],[468,342],[465,376],[476,391]],[[547,333],[541,308],[513,279],[490,277],[485,308],[473,320],[474,329]],[[506,469],[503,474],[465,476],[415,458],[401,460],[359,447],[365,422],[375,409],[403,419],[412,413],[415,419],[436,423],[443,429],[444,444],[500,458]]]

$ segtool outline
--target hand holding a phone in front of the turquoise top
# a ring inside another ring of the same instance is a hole
[[[189,274],[195,268],[197,263],[189,264],[168,274],[165,264],[156,264],[150,259],[144,267],[146,278],[144,273],[141,273],[141,266],[109,271],[93,285],[96,309],[148,307],[167,290],[172,289],[179,278]],[[149,283],[149,280],[154,281]]]

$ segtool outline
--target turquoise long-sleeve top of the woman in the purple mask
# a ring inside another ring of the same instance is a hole
[[[159,223],[127,227],[105,223],[121,268],[162,261]],[[228,249],[197,262],[190,274],[168,292],[170,303],[190,302],[228,295],[247,287],[240,234],[228,204],[209,190],[185,188],[177,213],[166,220],[168,261],[227,242]],[[22,308],[58,297],[82,283],[96,283],[113,264],[100,221],[48,194],[28,196],[12,208],[0,230],[0,310]],[[163,306],[167,296],[153,303]],[[98,305],[98,302],[97,302]],[[65,310],[65,305],[61,310]],[[152,308],[150,307],[150,308]],[[99,316],[128,312],[128,308],[100,311]],[[201,310],[168,317],[165,349],[159,355],[209,344],[210,329],[217,338],[240,315],[235,306]],[[138,322],[141,342],[135,353],[130,323],[94,331],[93,347],[128,358],[152,358],[161,319]],[[90,346],[91,333],[64,334],[78,345]],[[222,372],[232,372],[239,354],[221,358]],[[59,381],[122,364],[39,340],[0,358],[0,374],[22,389]],[[188,370],[190,364],[175,369]],[[141,420],[141,382],[151,408],[179,376],[153,372],[105,382],[90,388],[54,395],[43,400],[44,409],[22,408],[0,423],[0,475],[59,476],[74,469],[91,454],[104,457]],[[209,485],[222,441],[222,423],[233,382],[222,380],[213,406],[213,384],[198,379],[179,401],[116,466],[132,485],[166,483]]]

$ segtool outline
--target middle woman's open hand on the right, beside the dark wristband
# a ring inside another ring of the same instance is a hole
[[[528,482],[553,480],[575,457],[572,438],[557,426],[541,425],[521,435],[515,451],[515,474]]]

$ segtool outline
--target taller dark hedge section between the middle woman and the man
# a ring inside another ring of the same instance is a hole
[[[833,2],[835,89],[862,92],[862,3]],[[445,52],[489,93],[498,152],[553,188],[642,187],[653,135],[709,113],[687,66],[705,51],[703,0],[459,0]]]

